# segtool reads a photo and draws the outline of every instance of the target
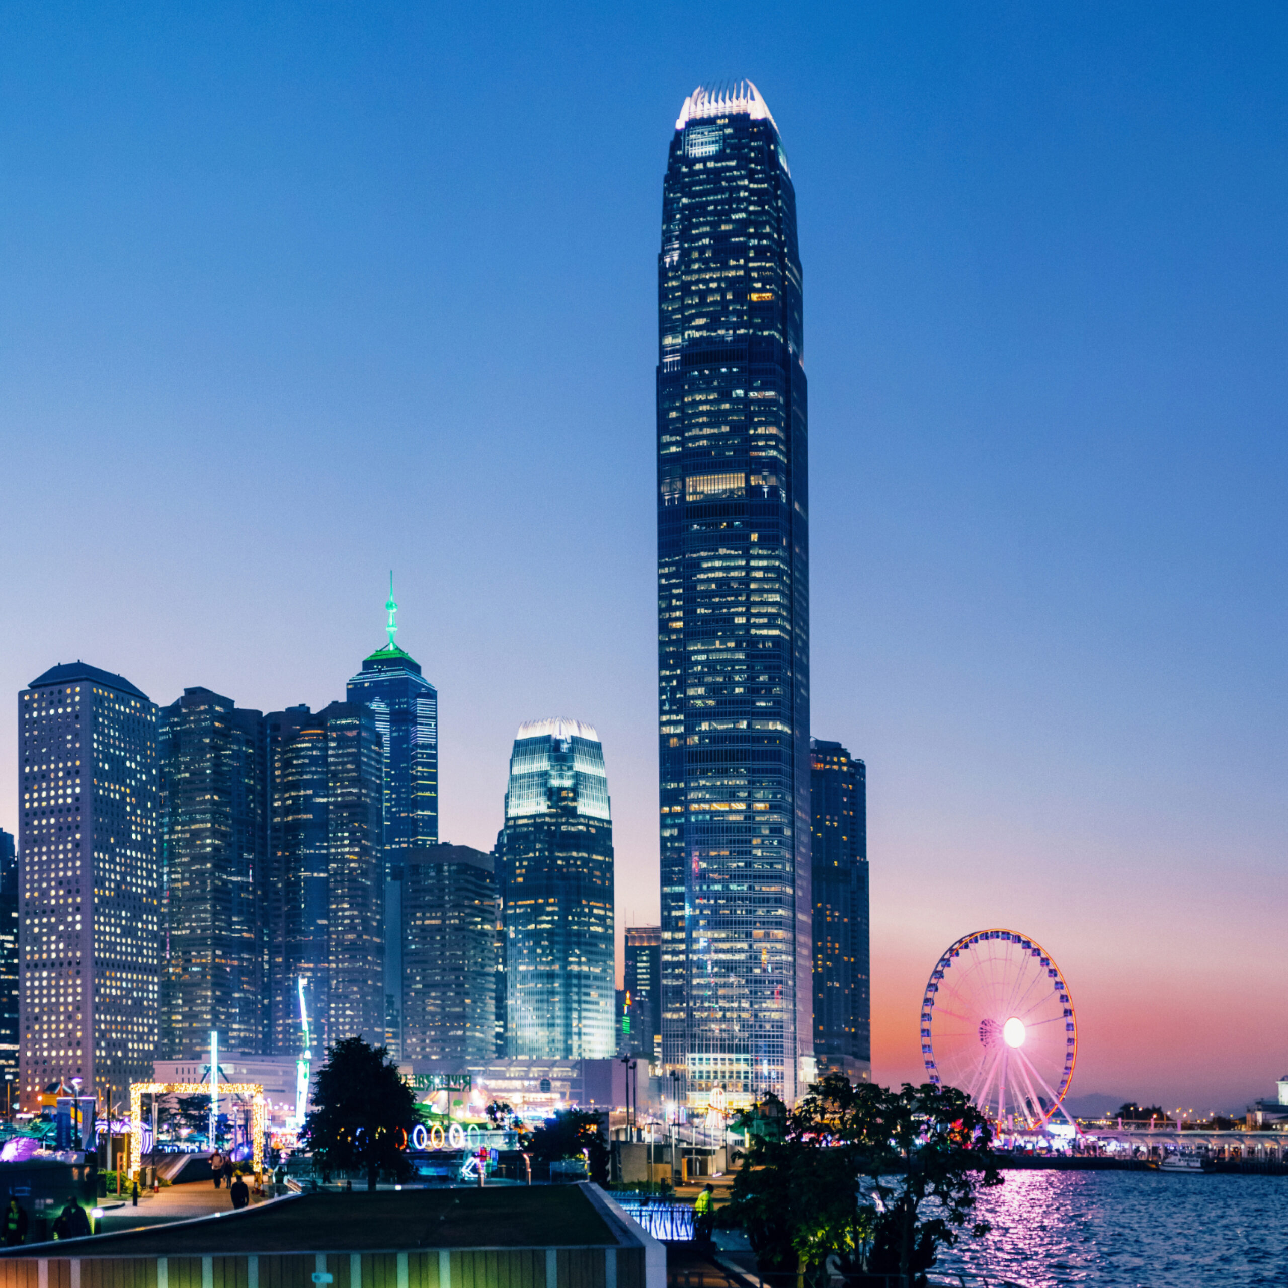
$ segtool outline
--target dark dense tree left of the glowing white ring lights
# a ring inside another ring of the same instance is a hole
[[[388,1047],[345,1038],[327,1051],[317,1073],[304,1141],[314,1171],[363,1170],[367,1189],[380,1173],[411,1175],[407,1133],[416,1124],[416,1097],[389,1060]]]

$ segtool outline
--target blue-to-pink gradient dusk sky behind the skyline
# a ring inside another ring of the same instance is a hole
[[[1274,4],[9,5],[0,826],[48,666],[318,707],[393,568],[443,838],[492,845],[522,720],[587,720],[618,929],[656,918],[662,173],[747,76],[799,197],[876,1077],[920,1081],[939,953],[1012,926],[1072,985],[1073,1095],[1273,1094],[1285,64]]]

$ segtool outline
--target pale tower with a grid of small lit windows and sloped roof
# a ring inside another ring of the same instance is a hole
[[[157,708],[97,666],[55,666],[18,694],[22,762],[21,1082],[106,1106],[152,1075],[160,909]]]

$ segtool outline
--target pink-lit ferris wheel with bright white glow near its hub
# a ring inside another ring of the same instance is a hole
[[[921,1003],[930,1081],[965,1091],[1002,1126],[1041,1127],[1060,1113],[1078,1054],[1069,985],[1041,944],[1014,930],[958,939],[935,963]]]

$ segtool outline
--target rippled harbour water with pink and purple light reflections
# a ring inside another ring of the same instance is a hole
[[[1003,1172],[980,1193],[993,1224],[936,1270],[975,1270],[1024,1288],[1288,1285],[1288,1176]]]

